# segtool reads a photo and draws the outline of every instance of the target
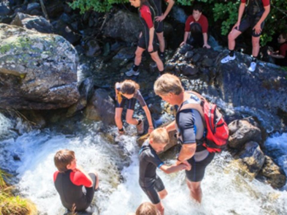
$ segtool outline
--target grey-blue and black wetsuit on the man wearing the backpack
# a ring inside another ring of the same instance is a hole
[[[199,103],[201,100],[194,94],[182,105],[188,103]],[[179,109],[179,108],[178,108]],[[196,152],[187,161],[191,164],[190,171],[185,171],[186,177],[191,182],[199,182],[204,177],[206,166],[212,161],[215,153],[209,153],[202,145],[204,136],[204,124],[197,110],[185,109],[176,114],[176,126],[181,144],[196,144]]]

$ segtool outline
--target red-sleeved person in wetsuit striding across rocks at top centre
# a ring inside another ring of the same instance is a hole
[[[132,68],[126,72],[127,76],[138,76],[138,67],[141,64],[141,56],[147,49],[152,59],[155,61],[160,73],[164,71],[164,64],[158,56],[158,44],[155,36],[155,12],[147,0],[129,0],[132,6],[139,7],[139,17],[143,26],[138,41],[138,47],[135,51],[135,62]]]

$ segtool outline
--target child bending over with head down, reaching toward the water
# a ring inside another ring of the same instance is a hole
[[[125,103],[128,105],[126,111],[126,122],[132,125],[137,126],[138,134],[141,135],[144,133],[144,122],[141,119],[135,119],[132,117],[135,110],[135,102],[138,100],[144,112],[146,113],[147,121],[149,122],[148,132],[152,132],[152,117],[149,112],[149,108],[144,101],[143,96],[140,92],[140,86],[132,80],[124,80],[123,82],[117,82],[115,84],[115,93],[116,93],[116,113],[115,113],[115,122],[119,133],[124,133],[123,122],[121,119],[123,107]]]

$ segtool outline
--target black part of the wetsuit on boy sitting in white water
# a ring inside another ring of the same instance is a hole
[[[96,184],[96,176],[93,173],[89,173],[93,181],[93,186],[88,188],[84,186],[78,186],[72,183],[70,179],[71,170],[63,173],[57,173],[54,184],[58,191],[62,205],[68,210],[72,211],[73,205],[76,206],[76,211],[85,211],[91,204]],[[86,189],[86,193],[83,192],[83,187]]]

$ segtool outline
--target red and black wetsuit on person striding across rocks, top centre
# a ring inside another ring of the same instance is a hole
[[[141,20],[141,23],[143,24],[142,28],[142,36],[138,41],[138,46],[143,49],[148,49],[149,47],[149,29],[152,27],[156,27],[154,25],[155,23],[155,11],[153,8],[148,4],[144,3],[138,10],[138,14]],[[155,52],[158,50],[158,44],[157,44],[157,37],[154,33],[153,36],[153,50],[152,52]]]

